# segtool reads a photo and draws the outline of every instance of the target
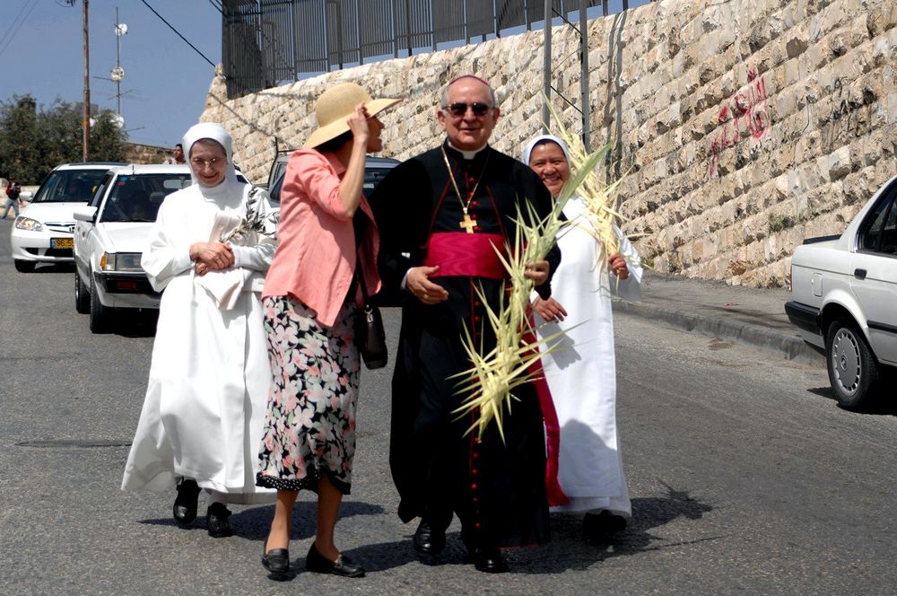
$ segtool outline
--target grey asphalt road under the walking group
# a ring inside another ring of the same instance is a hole
[[[588,544],[574,515],[553,543],[509,554],[512,572],[419,564],[395,515],[387,371],[362,373],[353,495],[339,545],[368,577],[266,579],[272,508],[234,507],[237,534],[170,520],[171,494],[122,493],[143,402],[152,318],[91,335],[74,311],[74,269],[20,274],[0,222],[0,593],[870,593],[897,592],[894,411],[835,406],[823,365],[617,317],[619,418],[634,517]],[[397,312],[387,311],[395,340]],[[395,350],[393,350],[395,353]],[[600,381],[597,376],[596,381]],[[201,506],[205,504],[201,501]],[[312,495],[294,513],[298,567]]]

